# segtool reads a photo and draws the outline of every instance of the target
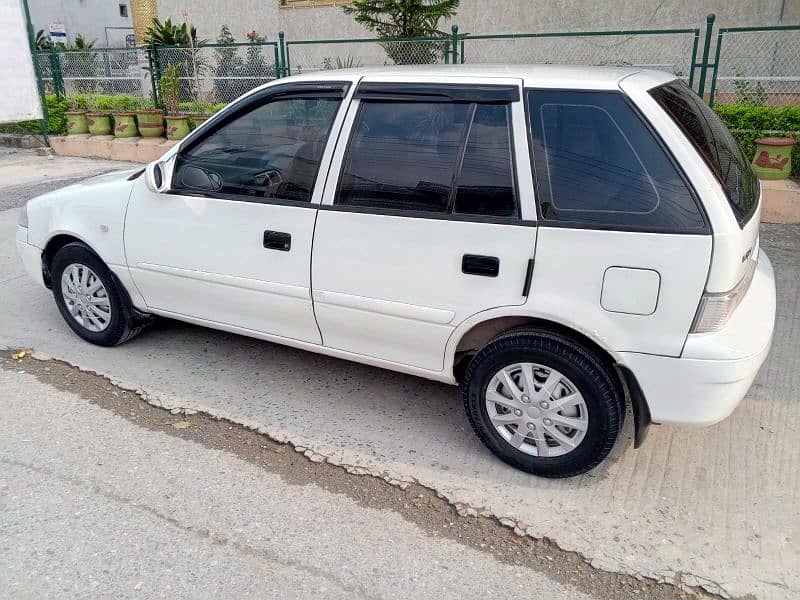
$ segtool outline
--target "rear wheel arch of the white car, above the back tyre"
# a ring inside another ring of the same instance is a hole
[[[450,337],[445,357],[445,369],[453,374],[460,384],[469,360],[480,348],[498,335],[513,330],[536,328],[553,331],[570,337],[595,352],[615,373],[614,383],[630,403],[634,420],[634,447],[638,448],[647,435],[650,425],[650,408],[647,399],[636,380],[635,374],[624,366],[618,354],[605,345],[602,340],[573,323],[565,324],[547,316],[534,316],[514,313],[487,311],[467,319]]]

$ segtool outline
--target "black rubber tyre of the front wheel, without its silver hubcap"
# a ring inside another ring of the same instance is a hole
[[[111,319],[108,326],[102,331],[87,329],[69,313],[66,302],[61,292],[61,276],[71,264],[81,264],[89,267],[106,289],[111,305]],[[50,276],[52,281],[53,297],[61,316],[70,329],[87,342],[98,346],[116,346],[136,336],[144,325],[130,326],[128,315],[131,311],[130,301],[125,290],[121,290],[114,276],[102,260],[87,246],[80,242],[73,242],[60,248],[50,263]]]

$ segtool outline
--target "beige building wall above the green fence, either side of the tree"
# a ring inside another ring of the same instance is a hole
[[[74,1],[74,0],[73,0]],[[332,0],[157,0],[160,18],[188,20],[201,38],[228,25],[237,41],[256,30],[274,40],[366,37]],[[709,13],[721,27],[800,22],[800,0],[462,0],[453,19],[473,34],[698,27]],[[185,15],[185,17],[184,17]],[[450,25],[445,24],[445,29]]]

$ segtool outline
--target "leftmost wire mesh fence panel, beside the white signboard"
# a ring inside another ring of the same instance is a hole
[[[128,94],[148,98],[152,80],[142,48],[91,48],[40,52],[45,90],[66,94]]]

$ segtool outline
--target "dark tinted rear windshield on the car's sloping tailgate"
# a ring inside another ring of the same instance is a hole
[[[722,185],[739,226],[758,205],[758,178],[736,140],[713,110],[682,81],[654,88],[650,95],[689,138]]]

